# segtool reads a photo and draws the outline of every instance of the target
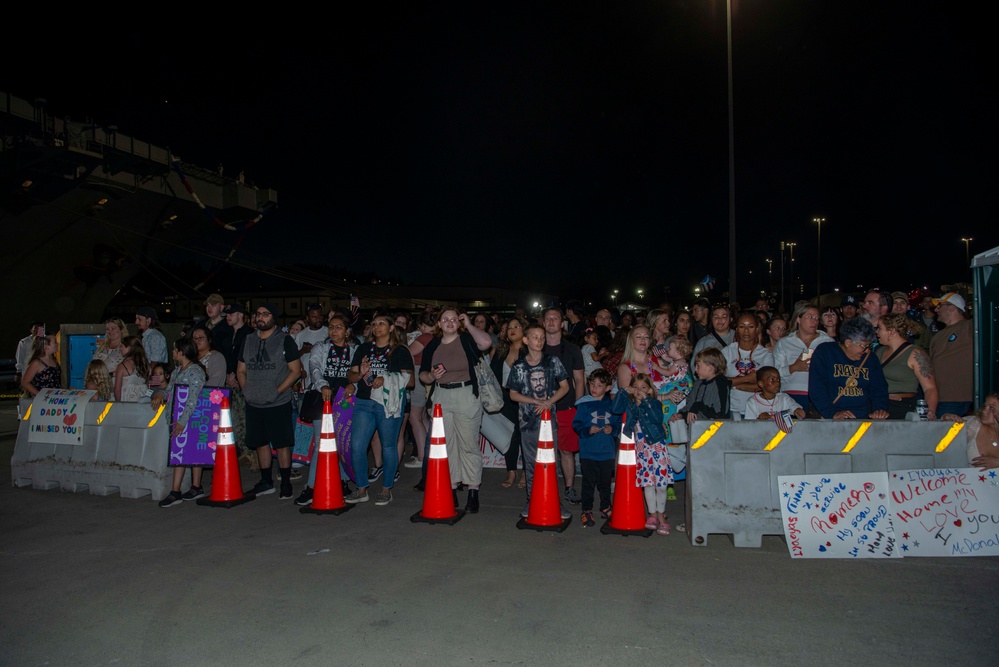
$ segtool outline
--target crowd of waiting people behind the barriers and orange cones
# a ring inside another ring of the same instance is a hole
[[[312,304],[305,318],[284,325],[276,304],[247,311],[212,294],[204,307],[205,316],[189,322],[170,348],[150,307],[136,311],[134,335],[123,320],[109,319],[85,385],[95,390],[95,400],[153,407],[169,404],[179,384],[227,387],[237,445],[252,452],[259,469],[251,489],[258,496],[292,497],[291,480],[301,476],[291,448],[303,396],[313,390],[330,400],[342,389],[353,401],[353,475],[346,466],[341,470],[346,502],[374,497],[376,505],[391,503],[400,467],[421,468],[415,488],[423,490],[429,411],[440,404],[455,507],[467,488],[465,510],[478,512],[484,411],[476,367],[483,359],[503,388],[499,414],[515,424],[502,488],[523,490],[525,517],[546,412],[563,498],[581,506],[584,526],[595,523],[597,495],[600,515],[612,511],[610,479],[623,431],[636,443],[646,527],[668,534],[666,501],[675,497],[673,484],[686,465],[671,425],[697,419],[906,419],[925,402],[926,419],[969,419],[970,464],[999,466],[993,449],[999,399],[990,395],[971,414],[974,331],[956,293],[913,302],[904,292],[872,290],[845,295],[838,306],[800,301],[790,313],[774,312],[766,299],[742,308],[701,298],[679,310],[664,303],[647,311],[602,308],[591,314],[571,302],[564,311],[553,306],[532,316],[446,306],[416,317],[376,311],[365,321],[352,301],[346,311]],[[28,395],[60,386],[57,349],[56,337],[33,322],[17,350]],[[182,413],[171,433],[188,417]],[[310,421],[318,443],[321,420]],[[298,505],[311,503],[314,468]],[[190,489],[181,492],[185,472],[175,470],[161,506],[205,495],[197,467]],[[379,480],[381,489],[369,494]],[[562,512],[570,516],[564,505]]]

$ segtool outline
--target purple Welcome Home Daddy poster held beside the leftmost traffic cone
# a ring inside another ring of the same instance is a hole
[[[197,396],[192,396],[188,389],[187,385],[176,385],[173,388],[171,424],[178,420],[189,401],[196,403],[187,426],[176,438],[170,438],[170,458],[167,464],[213,466],[219,419],[222,416],[222,399],[229,398],[229,390],[225,387],[202,387]]]

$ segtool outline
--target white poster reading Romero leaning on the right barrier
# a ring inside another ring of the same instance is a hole
[[[887,472],[781,475],[791,558],[901,558]]]

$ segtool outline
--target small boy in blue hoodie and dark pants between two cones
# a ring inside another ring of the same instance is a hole
[[[610,483],[614,476],[614,453],[620,419],[611,411],[611,374],[598,368],[587,379],[590,393],[576,401],[572,428],[579,435],[579,467],[583,473],[583,528],[596,525],[593,518],[593,489],[600,491],[600,516],[610,518]]]

